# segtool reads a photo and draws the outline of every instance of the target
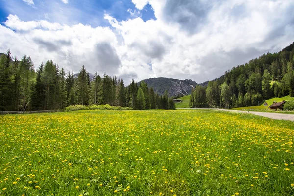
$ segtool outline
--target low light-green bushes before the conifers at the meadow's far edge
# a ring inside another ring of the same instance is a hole
[[[110,106],[109,104],[105,105],[91,105],[91,106],[68,106],[65,108],[65,111],[77,111],[77,110],[87,110],[87,109],[100,109],[100,110],[133,110],[130,107],[121,107],[121,106]]]

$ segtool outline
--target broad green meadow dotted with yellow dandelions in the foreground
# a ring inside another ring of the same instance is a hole
[[[293,196],[294,123],[220,111],[0,116],[3,196]]]

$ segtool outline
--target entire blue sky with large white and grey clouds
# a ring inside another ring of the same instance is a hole
[[[294,41],[294,0],[0,0],[0,52],[197,83]]]

